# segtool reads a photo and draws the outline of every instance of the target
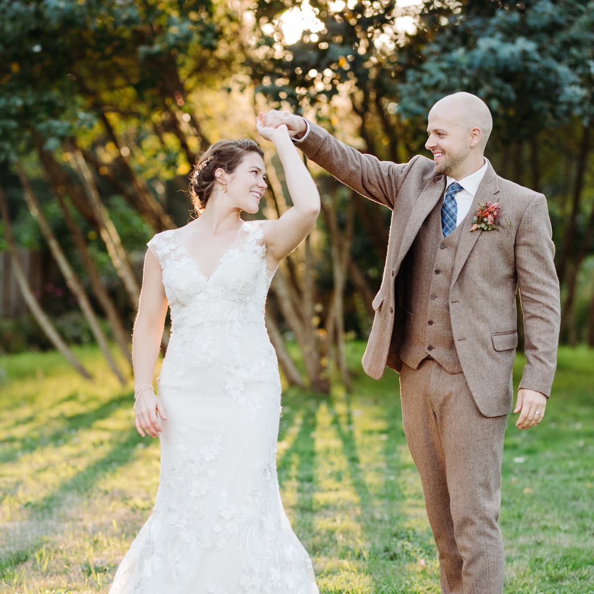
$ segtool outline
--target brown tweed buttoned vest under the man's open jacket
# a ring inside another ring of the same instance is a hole
[[[406,282],[406,333],[400,359],[416,369],[426,356],[448,373],[462,367],[454,345],[448,299],[451,274],[465,221],[444,238],[440,200],[416,235],[409,255]]]

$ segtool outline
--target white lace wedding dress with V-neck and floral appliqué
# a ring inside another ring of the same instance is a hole
[[[210,277],[188,228],[157,233],[171,336],[158,381],[161,473],[153,513],[110,594],[317,594],[276,474],[280,380],[264,326],[274,271],[244,222]],[[203,264],[204,266],[204,264]]]

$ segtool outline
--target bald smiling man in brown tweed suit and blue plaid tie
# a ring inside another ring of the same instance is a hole
[[[500,178],[484,158],[491,113],[469,93],[435,103],[425,144],[433,159],[418,155],[403,165],[361,154],[299,116],[268,112],[266,125],[279,124],[309,159],[392,210],[363,366],[375,379],[386,365],[400,372],[403,426],[439,551],[441,592],[501,594],[497,520],[516,289],[526,336],[519,429],[542,421],[557,357],[559,285],[545,197]],[[481,213],[479,203],[492,208]]]

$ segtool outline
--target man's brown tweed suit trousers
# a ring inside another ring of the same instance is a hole
[[[425,359],[400,372],[402,419],[421,474],[443,594],[501,594],[501,459],[507,415],[486,417],[464,374]]]

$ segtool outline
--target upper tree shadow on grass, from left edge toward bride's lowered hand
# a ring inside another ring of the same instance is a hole
[[[76,393],[69,394],[61,400],[61,403],[68,402],[75,396],[75,394]],[[37,432],[39,426],[31,427],[29,434],[27,434],[24,440],[13,440],[18,441],[18,445],[13,445],[10,448],[4,448],[0,451],[0,463],[14,462],[23,454],[32,453],[39,448],[55,444],[59,440],[61,440],[60,445],[68,443],[68,441],[75,435],[75,432],[73,432],[74,429],[77,429],[77,431],[88,429],[95,422],[105,419],[125,404],[129,404],[130,400],[131,394],[125,392],[118,394],[115,398],[108,400],[108,402],[104,402],[102,405],[99,405],[94,409],[85,410],[84,412],[76,413],[75,415],[64,416],[59,420],[51,419],[50,422],[52,423],[53,431],[47,435],[44,435],[43,433],[39,434]],[[41,415],[36,416],[39,417]],[[31,417],[33,417],[33,419],[35,418],[33,415],[31,415]],[[42,421],[40,426],[44,426],[47,421],[48,419]]]

